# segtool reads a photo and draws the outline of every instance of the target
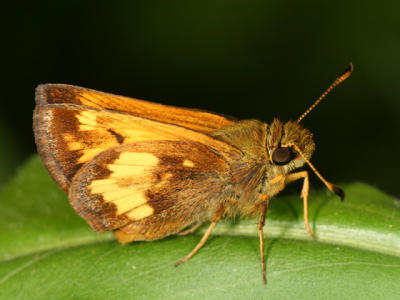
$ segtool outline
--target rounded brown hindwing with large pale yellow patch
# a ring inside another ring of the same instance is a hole
[[[212,215],[230,176],[224,155],[205,144],[136,142],[104,151],[83,166],[69,198],[95,231],[142,222],[142,239],[154,239]]]

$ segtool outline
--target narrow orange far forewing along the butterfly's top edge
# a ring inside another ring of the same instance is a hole
[[[234,123],[232,117],[207,111],[167,106],[66,84],[39,85],[36,90],[36,103],[38,105],[68,103],[126,112],[201,132],[210,132],[216,128]]]

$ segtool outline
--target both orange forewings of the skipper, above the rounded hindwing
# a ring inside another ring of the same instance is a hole
[[[218,143],[216,149],[238,152],[205,133],[232,123],[207,112],[59,84],[39,86],[36,102],[34,132],[38,152],[65,192],[85,163],[121,144],[191,140],[211,147]]]

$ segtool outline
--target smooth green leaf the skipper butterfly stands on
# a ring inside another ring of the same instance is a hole
[[[37,156],[0,192],[1,299],[394,299],[400,295],[400,205],[363,183],[342,185],[341,203],[310,195],[307,235],[298,195],[273,199],[261,279],[257,220],[120,245],[96,234],[68,204]]]

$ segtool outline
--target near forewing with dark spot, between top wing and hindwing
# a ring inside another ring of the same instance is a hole
[[[37,106],[34,131],[39,154],[64,191],[68,191],[73,176],[83,164],[122,143],[184,139],[216,146],[232,155],[240,152],[206,134],[181,126],[74,104]]]

